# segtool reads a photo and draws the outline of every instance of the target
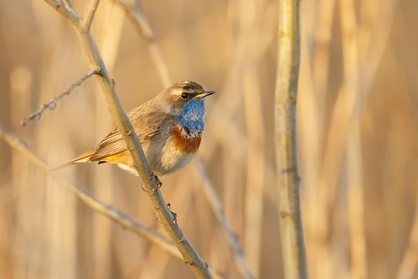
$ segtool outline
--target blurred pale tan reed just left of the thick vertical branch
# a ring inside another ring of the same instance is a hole
[[[257,27],[260,13],[257,10],[259,0],[240,0],[238,2],[238,19],[240,22],[240,43],[245,45],[247,59],[242,61],[239,82],[242,86],[243,112],[245,130],[249,144],[247,147],[247,174],[244,188],[244,220],[243,240],[245,255],[251,271],[260,277],[261,244],[263,229],[263,190],[265,186],[265,158],[263,129],[263,94],[260,92],[258,60],[254,56],[261,38],[260,33],[253,30]]]

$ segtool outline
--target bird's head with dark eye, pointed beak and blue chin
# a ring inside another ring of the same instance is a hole
[[[174,116],[184,116],[195,120],[206,114],[205,100],[215,91],[204,91],[196,82],[177,82],[165,89],[157,96],[157,102],[162,110]]]

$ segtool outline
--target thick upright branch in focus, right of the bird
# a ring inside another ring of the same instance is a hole
[[[279,223],[285,278],[307,278],[297,166],[296,97],[300,63],[299,0],[279,1],[275,126]]]

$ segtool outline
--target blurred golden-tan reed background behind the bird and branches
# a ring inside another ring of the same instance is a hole
[[[72,2],[84,13],[87,1]],[[256,278],[282,278],[273,139],[277,1],[141,6],[155,33],[151,45],[113,1],[101,1],[93,22],[125,110],[180,80],[217,91],[207,100],[201,157]],[[418,278],[418,2],[303,0],[300,12],[298,140],[310,276]],[[44,1],[0,1],[0,50],[0,123],[51,167],[114,127],[95,78],[40,121],[20,126],[88,71],[70,23]],[[159,54],[167,75],[155,63]],[[3,140],[0,155],[0,278],[194,278],[187,265],[92,211]],[[165,234],[137,178],[107,164],[62,172]],[[242,278],[196,160],[162,182],[200,255]]]

